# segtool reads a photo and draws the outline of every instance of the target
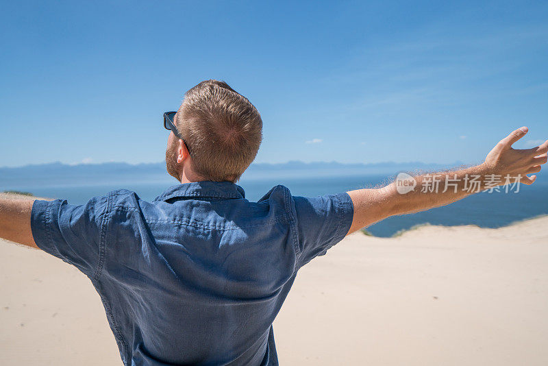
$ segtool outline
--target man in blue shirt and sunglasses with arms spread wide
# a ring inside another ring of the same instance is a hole
[[[432,174],[408,175],[314,198],[278,185],[249,202],[236,182],[257,154],[262,120],[248,99],[225,82],[201,82],[164,114],[164,127],[166,168],[180,184],[153,202],[125,189],[82,206],[0,201],[0,237],[90,278],[125,365],[277,365],[272,323],[303,265],[386,217],[479,191],[472,181],[532,184],[527,174],[540,171],[548,151],[548,141],[512,149],[527,133],[521,127],[482,164],[440,172],[445,189],[421,189]]]

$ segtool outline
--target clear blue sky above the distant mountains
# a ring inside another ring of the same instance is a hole
[[[1,1],[0,166],[160,162],[201,80],[258,108],[256,162],[482,160],[548,138],[546,1]]]

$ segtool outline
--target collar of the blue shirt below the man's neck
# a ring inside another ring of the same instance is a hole
[[[203,180],[171,186],[154,201],[166,201],[173,197],[245,198],[244,188],[232,182]]]

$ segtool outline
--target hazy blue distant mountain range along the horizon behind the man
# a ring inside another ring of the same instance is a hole
[[[242,180],[272,177],[310,178],[337,175],[395,175],[399,171],[432,171],[460,167],[462,162],[436,164],[425,162],[378,162],[344,164],[341,162],[253,163],[242,175]],[[127,182],[173,182],[166,172],[165,162],[128,164],[104,162],[101,164],[30,164],[23,167],[0,167],[0,189],[28,184],[110,184]]]

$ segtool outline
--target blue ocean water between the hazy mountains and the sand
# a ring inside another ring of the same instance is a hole
[[[166,177],[169,177],[166,175]],[[543,177],[548,178],[548,177]],[[338,176],[291,176],[289,178],[242,178],[238,184],[244,188],[249,201],[257,201],[277,184],[290,188],[292,195],[315,197],[328,193],[350,191],[358,188],[373,188],[386,182],[386,175],[338,175]],[[0,186],[3,190],[31,192],[36,196],[67,199],[71,204],[84,204],[96,195],[103,195],[117,188],[134,191],[142,199],[150,201],[169,186],[177,184],[169,178],[147,180],[146,182],[112,182],[109,184],[79,182],[79,184],[17,184]],[[519,186],[509,193],[477,193],[447,206],[433,208],[411,215],[390,217],[371,225],[366,230],[374,236],[388,237],[409,230],[415,225],[477,225],[482,228],[499,228],[514,221],[539,215],[548,215],[548,182],[540,176],[532,186]]]

